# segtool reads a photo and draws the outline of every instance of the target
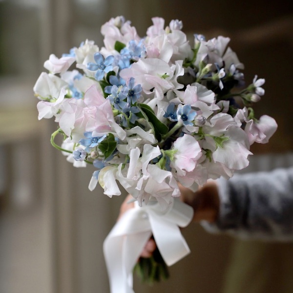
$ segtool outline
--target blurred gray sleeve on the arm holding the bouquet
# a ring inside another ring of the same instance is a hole
[[[220,211],[209,231],[293,241],[293,167],[219,179]]]

